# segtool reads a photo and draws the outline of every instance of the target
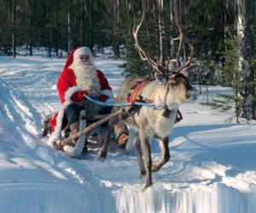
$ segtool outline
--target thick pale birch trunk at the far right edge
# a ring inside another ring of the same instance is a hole
[[[253,57],[253,0],[236,0],[236,32],[240,41],[238,47],[238,76],[241,83],[252,82],[250,62]],[[241,117],[251,119],[253,104],[249,96],[253,95],[252,87],[244,85],[238,89],[237,96],[241,99]]]

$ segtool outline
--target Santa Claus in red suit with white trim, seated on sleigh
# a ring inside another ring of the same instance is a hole
[[[75,49],[68,58],[61,72],[57,85],[61,99],[61,108],[51,120],[53,133],[49,145],[61,138],[61,130],[69,127],[72,134],[79,131],[79,115],[86,107],[85,95],[93,96],[99,101],[113,101],[113,92],[103,72],[96,69],[89,48]],[[91,108],[91,107],[90,107]],[[99,113],[111,112],[110,107],[103,107]]]

